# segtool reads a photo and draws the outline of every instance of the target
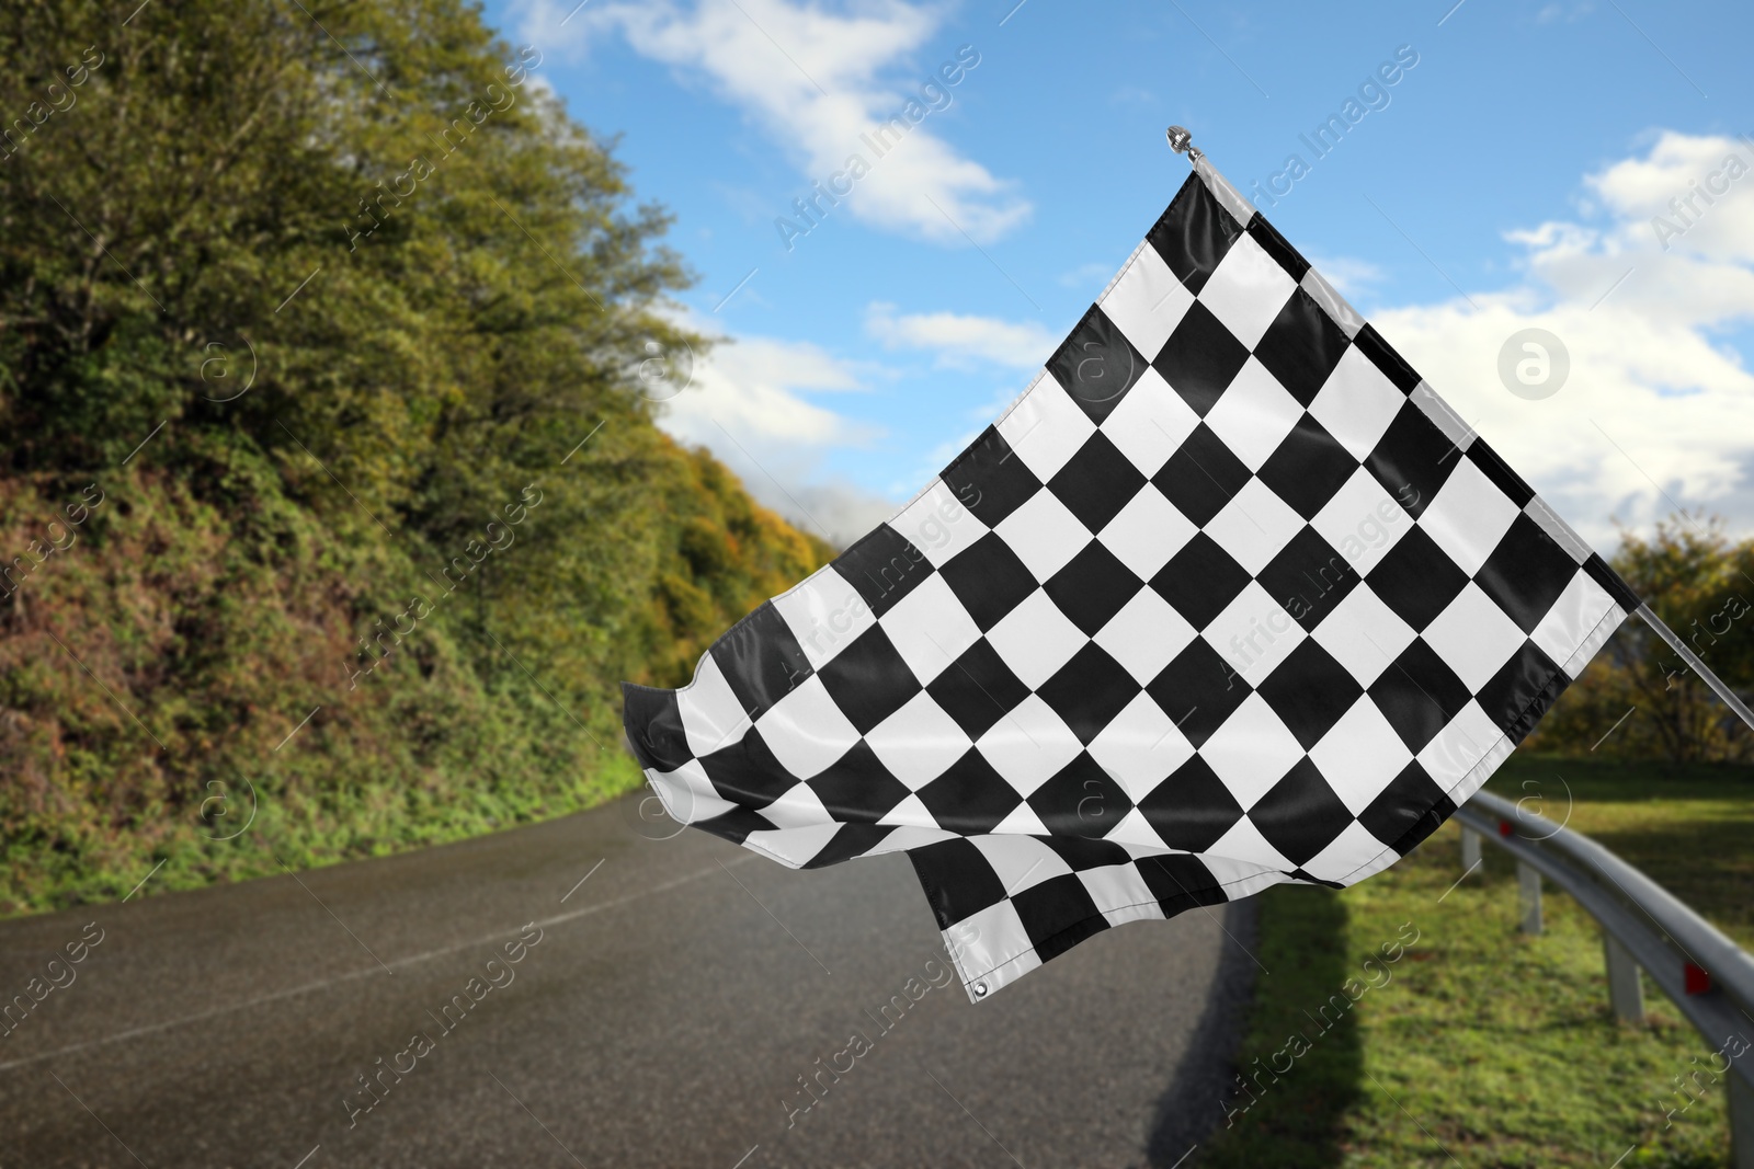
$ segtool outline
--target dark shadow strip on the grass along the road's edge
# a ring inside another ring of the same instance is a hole
[[[1331,889],[1305,885],[1268,889],[1256,901],[1256,957],[1268,973],[1256,967],[1254,1003],[1235,1066],[1224,1073],[1216,1129],[1184,1169],[1338,1165],[1344,1118],[1361,1092],[1358,1020],[1340,1006],[1349,1004],[1340,987],[1356,974],[1345,903]]]

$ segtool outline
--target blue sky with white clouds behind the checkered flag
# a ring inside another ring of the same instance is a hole
[[[719,342],[640,354],[661,424],[819,535],[1030,384],[1187,177],[1172,123],[1598,549],[1677,508],[1754,535],[1745,4],[484,14],[675,216],[667,312]]]

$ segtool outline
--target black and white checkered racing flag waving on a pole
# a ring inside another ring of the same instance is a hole
[[[1387,868],[1636,605],[1200,161],[996,424],[626,729],[677,820],[909,850],[979,999]]]

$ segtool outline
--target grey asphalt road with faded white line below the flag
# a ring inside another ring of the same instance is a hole
[[[0,1169],[1168,1167],[1219,1120],[1245,904],[1107,931],[975,1006],[933,985],[905,857],[796,873],[645,834],[624,799],[0,922],[0,995],[33,1003],[0,1038]]]

